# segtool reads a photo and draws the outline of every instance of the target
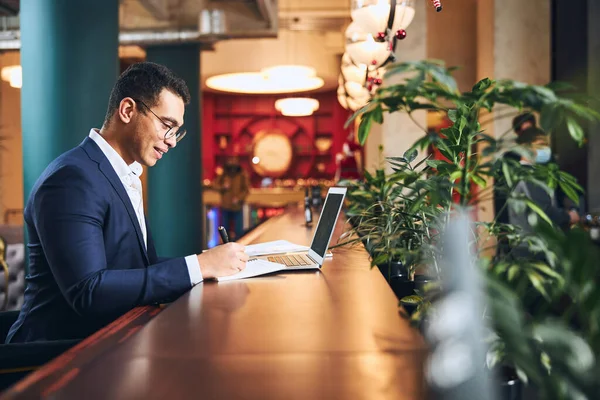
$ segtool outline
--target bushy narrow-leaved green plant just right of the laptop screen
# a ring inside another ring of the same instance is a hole
[[[365,172],[362,181],[340,182],[349,188],[352,228],[337,246],[362,241],[373,266],[401,262],[409,275],[423,262],[421,248],[432,241],[430,222],[440,210],[430,199],[427,159],[417,162],[416,157],[417,151],[410,150],[387,160],[392,173],[382,166],[374,174]]]

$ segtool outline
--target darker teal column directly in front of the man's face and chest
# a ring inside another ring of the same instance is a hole
[[[165,65],[185,80],[191,102],[185,107],[187,135],[148,169],[148,220],[161,257],[202,250],[202,161],[200,126],[200,46],[149,47],[146,59]]]

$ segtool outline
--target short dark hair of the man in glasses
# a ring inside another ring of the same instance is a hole
[[[190,91],[185,81],[169,68],[153,62],[132,64],[113,86],[104,123],[108,123],[125,97],[141,100],[148,107],[152,107],[158,102],[158,96],[163,89],[181,97],[185,104],[190,102]]]

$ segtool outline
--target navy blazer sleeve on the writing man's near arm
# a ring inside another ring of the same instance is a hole
[[[33,199],[35,229],[48,264],[71,307],[79,314],[114,315],[140,305],[169,302],[191,287],[183,257],[147,268],[107,265],[103,226],[106,194],[89,173],[65,166],[40,186]]]

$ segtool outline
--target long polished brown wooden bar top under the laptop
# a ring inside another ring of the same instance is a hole
[[[241,242],[311,238],[293,207]],[[424,398],[423,339],[362,247],[333,253],[321,271],[199,284],[126,340],[50,362],[3,398]]]

